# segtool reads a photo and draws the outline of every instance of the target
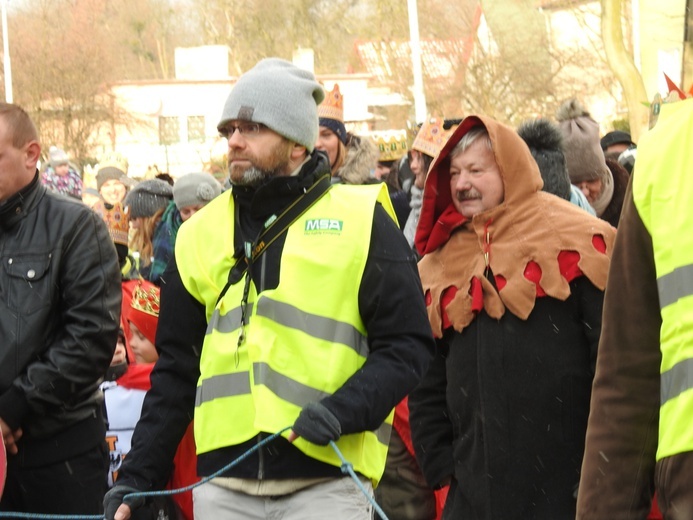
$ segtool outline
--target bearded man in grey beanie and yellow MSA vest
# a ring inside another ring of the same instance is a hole
[[[201,477],[283,432],[196,488],[195,518],[371,518],[328,444],[377,484],[392,409],[434,344],[387,189],[332,186],[314,150],[323,98],[312,73],[277,58],[233,87],[218,125],[232,188],[178,232],[160,357],[109,520],[142,504],[128,493],[165,483],[193,414]]]

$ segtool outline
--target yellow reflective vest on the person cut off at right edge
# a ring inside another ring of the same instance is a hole
[[[657,460],[693,451],[692,146],[693,99],[663,105],[638,144],[633,176],[633,200],[652,236],[662,314]]]

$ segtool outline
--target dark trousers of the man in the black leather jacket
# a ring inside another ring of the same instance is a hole
[[[7,482],[0,511],[98,515],[108,489],[106,442],[92,450],[38,468],[22,468],[7,456]]]

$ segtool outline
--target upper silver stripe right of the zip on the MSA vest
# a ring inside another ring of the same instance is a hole
[[[314,338],[346,345],[359,356],[368,356],[368,341],[366,337],[353,325],[343,321],[310,314],[298,307],[270,298],[260,298],[257,304],[257,314],[285,327],[305,332]]]

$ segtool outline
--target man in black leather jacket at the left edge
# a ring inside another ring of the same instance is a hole
[[[0,103],[0,510],[98,514],[108,451],[99,383],[113,356],[120,273],[105,223],[47,191],[29,116]]]

